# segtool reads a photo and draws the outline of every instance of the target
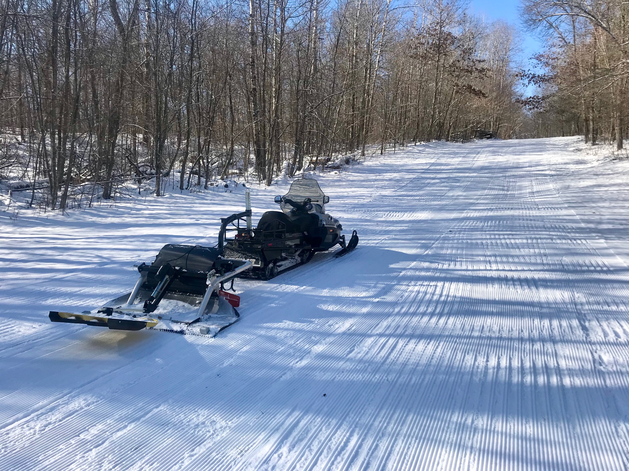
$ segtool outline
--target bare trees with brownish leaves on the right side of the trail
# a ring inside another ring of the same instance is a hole
[[[621,0],[525,0],[526,23],[548,38],[530,73],[540,94],[528,98],[540,136],[582,134],[616,141],[628,124],[629,3]]]

